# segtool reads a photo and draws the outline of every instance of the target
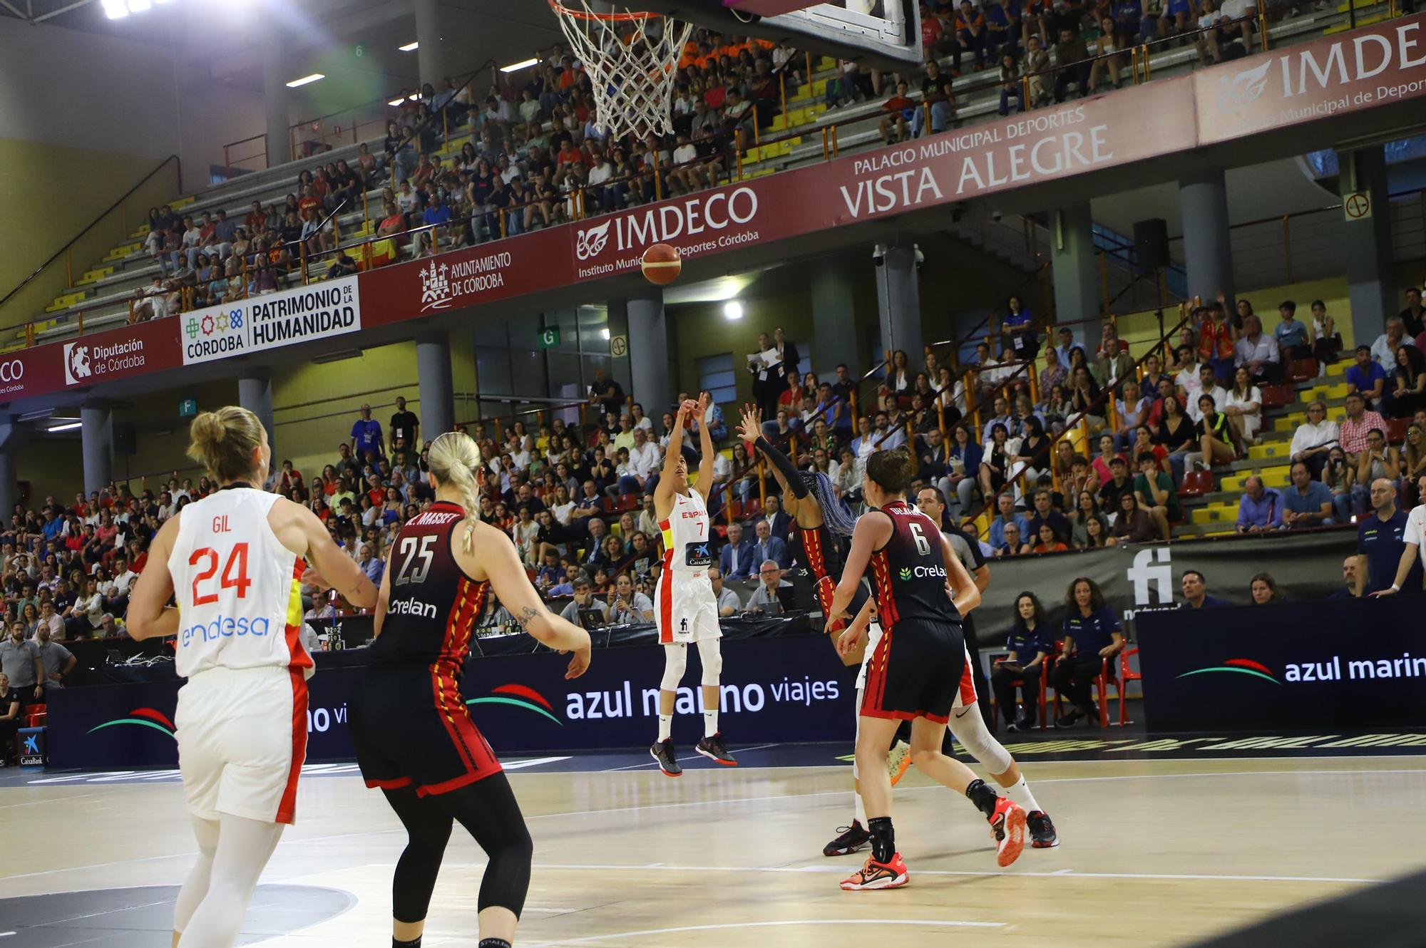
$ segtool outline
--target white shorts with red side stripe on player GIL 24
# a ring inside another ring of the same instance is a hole
[[[307,760],[301,669],[208,669],[178,691],[178,770],[188,810],[294,823]]]

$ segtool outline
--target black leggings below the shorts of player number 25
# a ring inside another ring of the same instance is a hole
[[[520,917],[535,845],[505,774],[431,797],[418,797],[411,787],[382,793],[409,835],[391,880],[391,914],[398,922],[425,919],[452,820],[459,820],[491,858],[481,880],[481,911],[499,905]]]

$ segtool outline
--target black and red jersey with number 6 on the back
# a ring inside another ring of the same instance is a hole
[[[960,614],[945,594],[941,529],[906,500],[893,500],[878,512],[893,526],[891,539],[867,566],[881,627],[890,632],[907,619],[958,626]]]

